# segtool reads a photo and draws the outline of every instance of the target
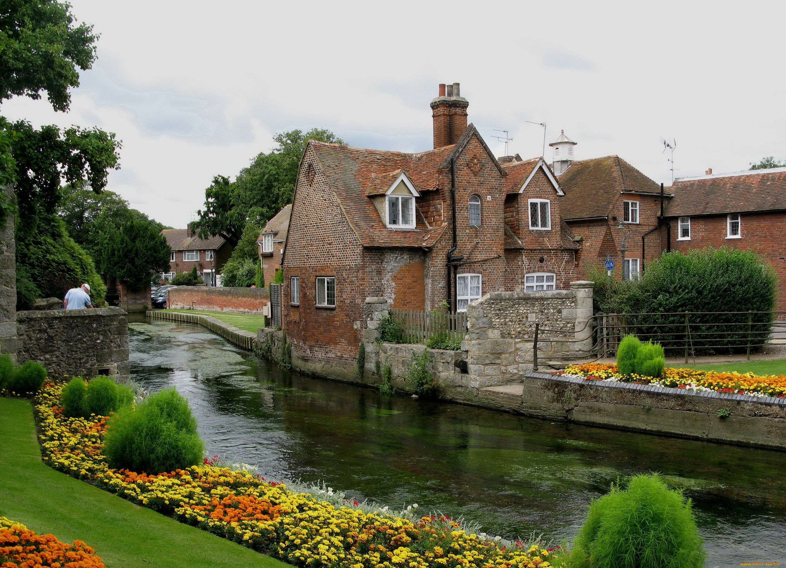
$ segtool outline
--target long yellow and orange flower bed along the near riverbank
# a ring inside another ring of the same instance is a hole
[[[211,460],[161,475],[113,470],[101,454],[106,419],[62,416],[60,392],[61,385],[47,382],[34,402],[43,460],[51,467],[295,566],[550,566],[553,549],[489,540],[444,516],[391,515],[387,508],[369,511],[352,502],[336,506]]]

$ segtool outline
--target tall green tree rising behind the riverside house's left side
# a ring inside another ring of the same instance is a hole
[[[292,203],[298,167],[309,140],[343,144],[329,130],[313,128],[306,133],[290,130],[274,136],[277,147],[260,152],[235,181],[215,176],[205,190],[204,211],[193,226],[203,238],[222,236],[237,244],[247,221],[262,227],[281,207]]]

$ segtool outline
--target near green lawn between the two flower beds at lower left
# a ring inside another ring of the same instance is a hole
[[[46,466],[30,401],[0,398],[0,433],[0,515],[85,541],[109,568],[289,566]]]

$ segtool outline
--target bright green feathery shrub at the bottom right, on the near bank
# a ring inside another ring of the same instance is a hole
[[[571,557],[576,568],[701,568],[704,551],[691,501],[658,475],[637,475],[593,501]]]

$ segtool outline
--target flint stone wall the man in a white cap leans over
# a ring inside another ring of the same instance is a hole
[[[39,361],[50,376],[127,378],[128,318],[119,308],[17,313],[19,362]]]

